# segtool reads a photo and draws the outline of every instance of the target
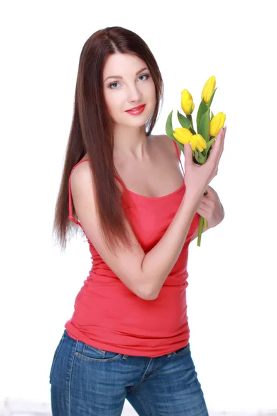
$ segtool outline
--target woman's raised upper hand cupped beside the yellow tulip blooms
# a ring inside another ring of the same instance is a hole
[[[185,155],[185,184],[186,195],[190,195],[193,198],[202,198],[206,191],[208,184],[213,177],[217,175],[218,164],[220,163],[220,157],[224,149],[224,138],[226,133],[226,127],[222,128],[217,134],[217,138],[211,146],[211,153],[208,156],[206,162],[202,165],[195,164],[193,162],[193,150],[190,144],[184,145]]]

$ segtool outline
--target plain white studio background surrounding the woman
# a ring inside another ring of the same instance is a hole
[[[53,352],[91,266],[80,235],[66,254],[51,236],[78,60],[93,32],[123,26],[161,69],[154,134],[182,89],[198,107],[216,77],[227,132],[211,185],[225,218],[190,245],[190,345],[208,408],[277,408],[274,1],[10,1],[0,14],[0,399],[50,401]]]

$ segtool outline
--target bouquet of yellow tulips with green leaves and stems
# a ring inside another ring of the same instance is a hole
[[[195,104],[193,103],[193,97],[187,89],[183,89],[181,93],[181,109],[184,111],[185,115],[181,114],[179,111],[177,112],[181,127],[175,129],[172,128],[173,110],[168,115],[166,121],[166,135],[177,141],[183,152],[184,144],[190,144],[193,150],[193,161],[196,164],[204,164],[206,162],[206,159],[208,159],[208,155],[211,152],[211,145],[225,123],[226,114],[223,112],[220,112],[215,116],[213,115],[213,112],[210,114],[210,107],[213,102],[215,91],[215,77],[211,76],[211,78],[208,78],[206,81],[202,90],[202,101],[199,105],[196,117],[197,131],[195,131],[193,117],[191,115],[195,109]],[[207,191],[204,192],[204,195],[206,195],[206,193]],[[208,228],[207,221],[200,216],[197,239],[198,246],[201,244],[203,224],[204,227]]]

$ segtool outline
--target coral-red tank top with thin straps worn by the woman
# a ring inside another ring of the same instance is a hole
[[[173,142],[179,157],[177,144]],[[179,160],[181,162],[180,157]],[[69,218],[82,227],[72,216],[71,175]],[[123,203],[125,213],[147,253],[159,242],[174,218],[184,197],[185,184],[169,195],[151,198],[128,191],[124,183],[116,179],[128,194],[128,202]],[[195,214],[179,258],[155,300],[143,300],[130,291],[87,237],[92,267],[75,299],[73,315],[65,324],[69,336],[92,347],[133,356],[157,357],[188,345],[188,245],[198,223],[199,214]]]

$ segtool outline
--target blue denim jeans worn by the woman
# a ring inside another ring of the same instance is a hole
[[[53,416],[208,416],[190,345],[148,358],[90,347],[64,331],[50,372]]]

